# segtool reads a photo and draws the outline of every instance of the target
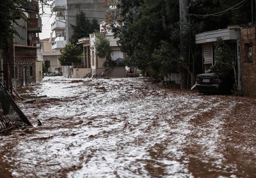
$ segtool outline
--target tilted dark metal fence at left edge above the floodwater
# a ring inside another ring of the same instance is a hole
[[[13,126],[32,126],[0,82],[0,131]]]

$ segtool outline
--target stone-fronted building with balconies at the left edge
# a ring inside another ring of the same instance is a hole
[[[0,79],[8,90],[42,80],[41,63],[36,54],[39,33],[42,32],[38,1],[31,0],[21,6],[21,11],[26,20],[15,19],[14,28],[18,35],[14,35],[14,44],[8,51],[0,51]]]

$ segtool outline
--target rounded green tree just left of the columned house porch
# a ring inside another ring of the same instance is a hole
[[[59,61],[62,66],[77,65],[81,62],[81,52],[79,46],[68,43],[60,52]]]

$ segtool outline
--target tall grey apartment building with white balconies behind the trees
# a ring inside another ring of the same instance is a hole
[[[72,36],[72,25],[76,25],[76,14],[84,11],[88,19],[96,18],[98,21],[104,20],[106,9],[101,10],[101,0],[54,0],[50,5],[55,16],[51,24],[52,49],[62,50]],[[54,36],[54,37],[53,37]]]

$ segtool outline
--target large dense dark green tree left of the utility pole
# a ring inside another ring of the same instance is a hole
[[[179,2],[170,0],[121,0],[122,26],[113,28],[118,44],[127,53],[131,66],[136,66],[152,75],[162,75],[172,66],[168,60],[161,61],[157,50],[163,42],[179,51]],[[173,44],[176,45],[173,45]],[[160,66],[161,63],[163,66]]]

